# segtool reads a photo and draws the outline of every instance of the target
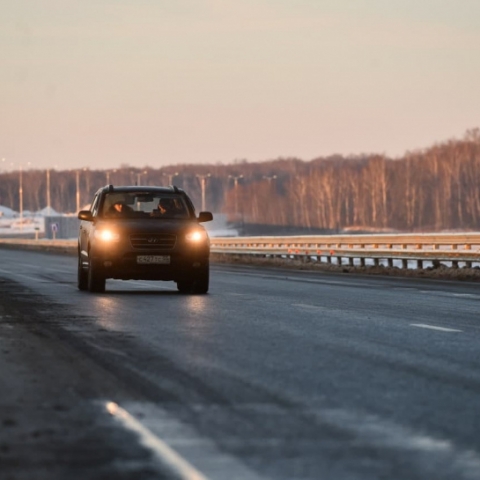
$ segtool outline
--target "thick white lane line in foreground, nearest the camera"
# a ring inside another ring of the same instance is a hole
[[[140,436],[141,443],[149,448],[179,480],[208,480],[202,473],[190,465],[175,450],[160,440],[147,427],[114,402],[107,402],[107,411],[129,430]]]

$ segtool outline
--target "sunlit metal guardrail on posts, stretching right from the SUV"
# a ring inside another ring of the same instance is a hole
[[[393,266],[399,260],[403,268],[408,261],[451,262],[467,267],[480,262],[480,233],[453,234],[382,234],[382,235],[324,235],[289,237],[230,237],[213,238],[212,253],[229,255],[253,255],[282,257],[304,261],[326,261],[354,265],[358,259],[364,266],[366,259],[374,265],[385,260]]]

